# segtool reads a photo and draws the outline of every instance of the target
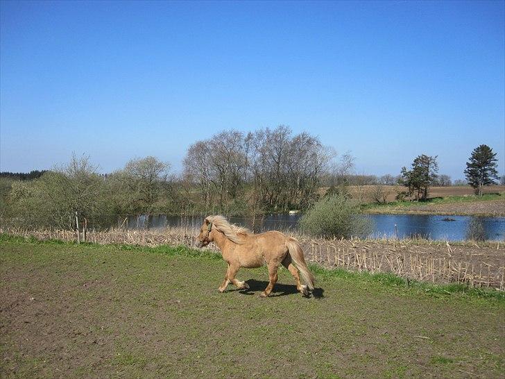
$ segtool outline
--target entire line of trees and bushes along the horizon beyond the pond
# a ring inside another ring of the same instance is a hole
[[[497,179],[495,153],[486,145],[472,152],[465,174],[481,194]],[[437,157],[419,155],[399,176],[354,173],[350,153],[336,152],[310,133],[286,126],[249,133],[228,130],[191,144],[180,174],[155,157],[135,158],[100,174],[87,156],[49,171],[0,177],[0,221],[21,226],[72,228],[75,214],[90,227],[117,224],[135,214],[260,214],[308,210],[327,194],[350,185],[404,187],[402,199],[427,199],[432,185],[450,185],[438,175]],[[29,180],[30,178],[33,178]],[[329,190],[324,188],[329,187]]]

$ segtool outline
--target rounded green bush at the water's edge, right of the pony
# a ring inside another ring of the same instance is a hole
[[[372,223],[360,213],[359,203],[343,194],[325,196],[300,219],[300,228],[316,237],[363,237]]]

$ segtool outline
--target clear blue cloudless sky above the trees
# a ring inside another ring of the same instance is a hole
[[[101,171],[235,128],[307,130],[358,173],[505,160],[504,1],[1,1],[0,171]]]

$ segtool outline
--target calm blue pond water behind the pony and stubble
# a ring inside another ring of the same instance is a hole
[[[373,222],[371,237],[424,237],[429,239],[505,240],[505,217],[440,216],[415,214],[368,214]],[[296,230],[298,214],[269,214],[254,220],[231,217],[234,224],[247,226],[260,232],[264,230]],[[204,217],[139,216],[128,219],[128,228],[166,228],[189,226],[199,228]]]

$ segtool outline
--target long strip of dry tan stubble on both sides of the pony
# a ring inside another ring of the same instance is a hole
[[[0,233],[40,240],[77,240],[69,230],[0,229]],[[87,242],[96,244],[162,244],[194,246],[196,230],[108,230],[89,232]],[[432,283],[463,283],[471,287],[505,290],[505,246],[493,243],[449,243],[416,239],[310,239],[296,236],[309,262],[350,271],[386,272]],[[217,251],[214,245],[207,249]]]

